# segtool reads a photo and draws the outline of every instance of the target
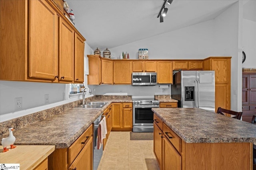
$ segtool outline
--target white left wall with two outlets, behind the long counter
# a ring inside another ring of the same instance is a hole
[[[85,43],[85,55],[92,49]],[[69,98],[69,84],[0,81],[0,122],[81,99]],[[44,95],[49,94],[49,104]],[[22,97],[22,110],[15,111],[15,98]]]

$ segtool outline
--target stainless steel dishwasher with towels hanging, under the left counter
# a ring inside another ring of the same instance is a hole
[[[103,154],[103,145],[100,147],[100,149],[97,149],[97,140],[98,140],[98,126],[100,124],[100,121],[102,120],[102,117],[105,115],[100,114],[100,116],[93,122],[93,170],[97,170],[100,159]]]

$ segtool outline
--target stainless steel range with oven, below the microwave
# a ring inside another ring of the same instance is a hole
[[[133,97],[133,132],[153,132],[154,112],[151,108],[159,107],[155,98]]]

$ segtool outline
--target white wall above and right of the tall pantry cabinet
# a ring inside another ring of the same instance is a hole
[[[242,110],[242,46],[239,46],[239,3],[214,19],[214,54],[231,56],[231,109]],[[241,6],[241,5],[240,5]],[[241,14],[240,14],[241,15]],[[242,24],[242,23],[240,23]],[[241,33],[240,33],[241,34]],[[242,44],[240,44],[242,45]],[[239,52],[239,55],[238,55]]]

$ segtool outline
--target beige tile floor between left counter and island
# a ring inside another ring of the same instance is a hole
[[[159,170],[153,141],[130,141],[130,132],[111,132],[98,170]]]

